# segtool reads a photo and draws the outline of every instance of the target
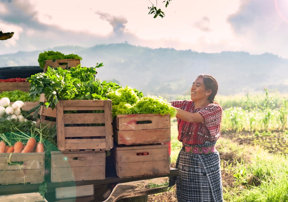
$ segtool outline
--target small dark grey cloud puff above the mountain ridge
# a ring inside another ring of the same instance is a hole
[[[128,23],[128,20],[124,16],[113,16],[101,11],[96,11],[95,14],[100,15],[100,19],[108,21],[116,34],[122,34],[126,27],[125,24]]]

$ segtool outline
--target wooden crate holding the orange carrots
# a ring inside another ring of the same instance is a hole
[[[13,153],[10,158],[10,162],[23,162],[24,166],[29,167],[22,168],[22,172],[17,165],[7,166],[7,160],[9,159],[10,154],[0,154],[0,184],[24,184],[24,176],[27,183],[42,183],[44,181],[44,154],[44,152]]]

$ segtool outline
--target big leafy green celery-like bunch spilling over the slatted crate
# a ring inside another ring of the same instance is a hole
[[[120,88],[116,83],[102,83],[94,74],[95,68],[80,65],[70,71],[48,67],[45,73],[40,72],[27,78],[31,83],[29,96],[34,98],[44,93],[46,107],[54,109],[58,100],[107,100],[107,94],[111,90]]]

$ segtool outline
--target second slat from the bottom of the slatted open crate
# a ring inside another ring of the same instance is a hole
[[[65,127],[65,137],[105,136],[105,126]]]

